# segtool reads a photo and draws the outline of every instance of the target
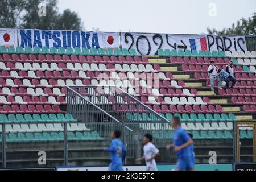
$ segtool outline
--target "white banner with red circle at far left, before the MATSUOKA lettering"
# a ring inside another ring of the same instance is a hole
[[[17,46],[16,29],[0,29],[0,46]]]

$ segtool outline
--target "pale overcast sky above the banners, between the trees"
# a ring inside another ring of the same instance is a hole
[[[86,30],[201,34],[230,27],[256,11],[256,0],[59,0]]]

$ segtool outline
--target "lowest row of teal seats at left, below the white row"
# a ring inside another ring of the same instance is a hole
[[[2,135],[2,134],[1,134]],[[68,141],[90,141],[90,140],[103,140],[102,137],[96,132],[68,132]],[[1,137],[2,140],[2,137]],[[63,142],[63,132],[43,132],[43,133],[10,133],[6,134],[7,143],[17,142]]]

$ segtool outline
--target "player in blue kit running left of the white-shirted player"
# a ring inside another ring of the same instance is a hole
[[[105,148],[105,152],[110,152],[111,163],[109,164],[110,171],[123,171],[123,162],[125,160],[127,150],[123,142],[119,140],[121,132],[116,130],[111,134],[112,142],[110,148]]]

